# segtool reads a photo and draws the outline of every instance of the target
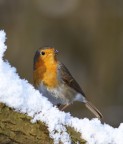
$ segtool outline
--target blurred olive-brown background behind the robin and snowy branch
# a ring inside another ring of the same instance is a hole
[[[55,47],[104,121],[123,122],[123,1],[0,0],[0,29],[7,33],[5,59],[21,78],[33,84],[35,51]],[[78,102],[69,111],[93,117]]]

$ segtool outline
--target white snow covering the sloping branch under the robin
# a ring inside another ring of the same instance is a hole
[[[59,111],[42,96],[39,91],[21,79],[7,61],[3,60],[6,34],[0,31],[0,102],[26,113],[32,117],[31,122],[43,121],[50,132],[50,137],[57,144],[60,141],[70,144],[71,139],[65,126],[71,126],[80,132],[88,144],[123,144],[123,123],[118,128],[108,124],[101,124],[98,119],[78,119],[69,113]]]

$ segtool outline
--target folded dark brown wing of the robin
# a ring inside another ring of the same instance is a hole
[[[72,75],[70,74],[70,72],[66,68],[66,66],[59,62],[58,69],[59,69],[60,76],[61,76],[61,79],[63,80],[63,82],[66,83],[69,87],[73,88],[78,93],[81,93],[85,97],[85,94],[82,91],[81,87],[76,82],[76,80],[72,77]]]

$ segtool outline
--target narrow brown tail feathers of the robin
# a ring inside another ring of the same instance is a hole
[[[103,118],[101,112],[89,101],[85,103],[85,106],[99,119]]]

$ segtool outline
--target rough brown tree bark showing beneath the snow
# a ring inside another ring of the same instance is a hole
[[[31,117],[0,103],[0,144],[53,144],[47,126],[31,123]],[[72,143],[86,143],[73,128],[67,127]]]

